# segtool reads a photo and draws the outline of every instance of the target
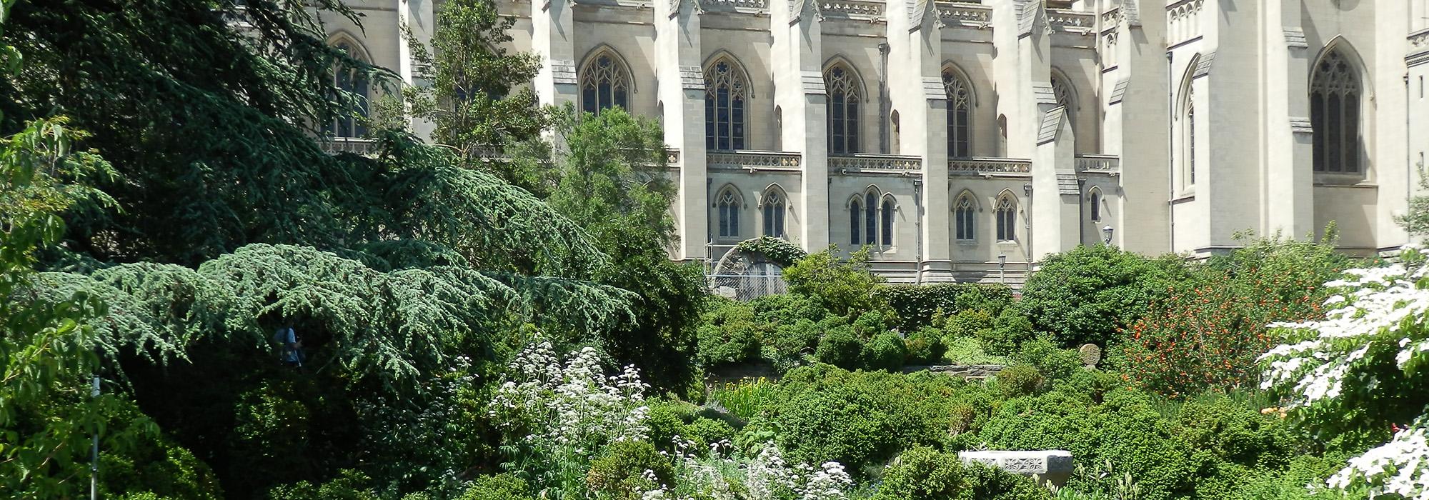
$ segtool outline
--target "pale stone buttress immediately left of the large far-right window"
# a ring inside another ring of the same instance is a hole
[[[1289,9],[1286,9],[1289,7]],[[1315,226],[1313,131],[1310,130],[1309,70],[1310,57],[1300,29],[1300,6],[1283,0],[1265,0],[1260,26],[1265,36],[1260,53],[1265,66],[1266,100],[1262,153],[1265,169],[1266,234],[1278,230],[1302,237]],[[1198,94],[1199,97],[1200,94]],[[1199,134],[1198,134],[1199,137]]]

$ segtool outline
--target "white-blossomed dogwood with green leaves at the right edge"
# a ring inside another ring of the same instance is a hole
[[[1418,250],[1405,261],[1355,269],[1326,283],[1325,320],[1270,327],[1285,344],[1260,356],[1263,389],[1289,394],[1286,410],[1322,436],[1393,426],[1393,439],[1329,479],[1376,497],[1429,500],[1429,271]]]

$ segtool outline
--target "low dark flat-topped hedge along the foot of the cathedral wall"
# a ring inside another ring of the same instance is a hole
[[[876,291],[889,303],[905,331],[933,324],[939,311],[956,314],[969,309],[997,314],[1012,303],[1012,289],[1000,284],[939,283],[925,286],[889,284]]]

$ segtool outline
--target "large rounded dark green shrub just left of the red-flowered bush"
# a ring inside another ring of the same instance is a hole
[[[1017,306],[1035,330],[1053,333],[1065,347],[1109,346],[1120,341],[1119,329],[1183,277],[1175,257],[1152,260],[1112,246],[1083,246],[1045,259]]]

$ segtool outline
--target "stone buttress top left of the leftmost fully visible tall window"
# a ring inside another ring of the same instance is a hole
[[[534,87],[542,104],[576,103],[576,30],[572,7],[572,0],[532,0],[532,51],[540,57]]]

